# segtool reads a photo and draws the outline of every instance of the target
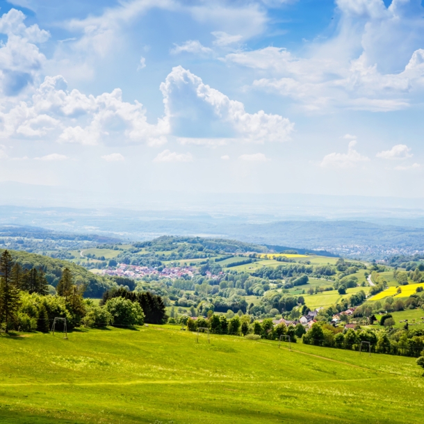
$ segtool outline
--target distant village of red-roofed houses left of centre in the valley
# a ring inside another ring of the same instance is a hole
[[[170,279],[181,278],[184,275],[188,275],[190,278],[193,278],[195,268],[187,267],[165,267],[163,270],[159,271],[156,268],[149,266],[137,266],[137,265],[127,265],[126,263],[118,263],[116,268],[108,268],[106,270],[101,270],[103,275],[117,275],[118,277],[127,277],[127,278],[142,278],[146,275],[158,275],[158,277],[165,277]]]

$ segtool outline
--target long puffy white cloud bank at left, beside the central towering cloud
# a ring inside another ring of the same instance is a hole
[[[162,145],[169,132],[167,118],[147,122],[136,101],[122,100],[122,91],[97,97],[67,90],[63,76],[47,76],[30,101],[0,111],[0,138],[48,138],[81,145],[117,142]]]

